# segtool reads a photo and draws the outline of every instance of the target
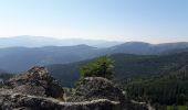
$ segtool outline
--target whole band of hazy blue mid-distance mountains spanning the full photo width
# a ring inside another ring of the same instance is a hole
[[[112,47],[97,48],[85,44],[74,46],[4,47],[0,48],[0,68],[17,73],[31,66],[69,64],[116,53],[163,55],[188,51],[188,43],[148,44],[127,42]]]

